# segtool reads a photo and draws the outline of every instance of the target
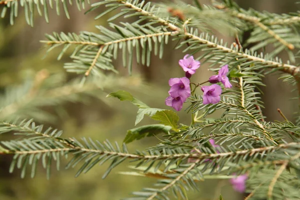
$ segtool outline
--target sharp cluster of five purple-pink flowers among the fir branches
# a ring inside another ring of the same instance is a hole
[[[171,88],[168,91],[169,96],[165,99],[165,104],[173,107],[177,111],[182,109],[184,101],[190,96],[189,78],[196,72],[196,69],[200,66],[200,62],[194,60],[193,56],[189,54],[186,54],[183,59],[179,60],[178,63],[182,67],[183,71],[185,71],[185,77],[169,79],[168,83]],[[200,86],[201,90],[203,91],[203,104],[214,104],[220,101],[222,88],[220,85],[215,83],[221,82],[224,87],[232,87],[227,77],[227,73],[228,65],[226,64],[220,68],[217,75],[212,75],[211,77],[209,77],[208,82],[213,84],[209,86],[201,86],[198,84],[195,86]]]

